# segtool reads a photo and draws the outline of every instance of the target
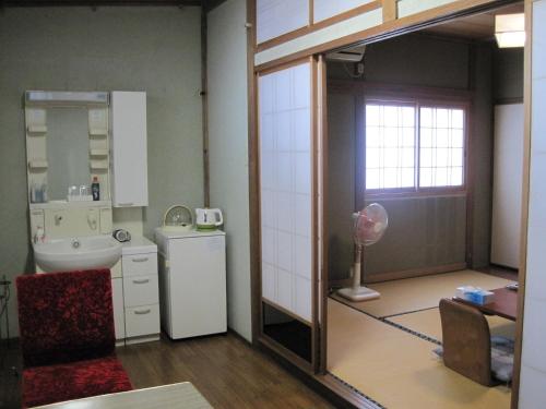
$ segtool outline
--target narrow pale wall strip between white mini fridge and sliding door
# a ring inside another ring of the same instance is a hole
[[[207,19],[211,207],[227,233],[228,326],[251,340],[246,1]]]

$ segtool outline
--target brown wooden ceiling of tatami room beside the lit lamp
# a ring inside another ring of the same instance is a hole
[[[487,41],[495,37],[495,15],[523,13],[523,4],[512,4],[486,13],[474,14],[467,17],[439,24],[423,31],[428,34],[459,37]]]

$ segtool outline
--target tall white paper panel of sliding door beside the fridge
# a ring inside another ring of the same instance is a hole
[[[262,296],[311,321],[311,68],[259,82]]]

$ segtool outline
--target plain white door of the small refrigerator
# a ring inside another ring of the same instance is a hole
[[[171,239],[171,337],[227,330],[225,236]]]

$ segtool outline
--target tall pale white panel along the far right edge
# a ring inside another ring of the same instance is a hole
[[[520,409],[546,402],[546,0],[533,3],[532,125],[527,270],[523,317]]]

